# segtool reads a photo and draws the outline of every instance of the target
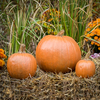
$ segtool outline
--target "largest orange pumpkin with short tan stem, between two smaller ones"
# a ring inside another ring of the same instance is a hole
[[[81,59],[78,44],[69,36],[47,35],[43,37],[36,48],[36,60],[39,67],[47,72],[69,72],[74,70],[76,63]]]

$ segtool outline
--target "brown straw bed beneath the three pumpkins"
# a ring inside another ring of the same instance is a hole
[[[0,100],[99,100],[100,65],[91,78],[79,78],[75,72],[54,74],[39,67],[34,77],[11,78],[6,65],[0,70]]]

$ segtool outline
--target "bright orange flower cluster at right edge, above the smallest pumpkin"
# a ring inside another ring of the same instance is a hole
[[[100,50],[100,18],[97,18],[95,21],[88,23],[88,28],[85,31],[86,37],[94,39],[95,41],[85,38],[85,41],[90,43],[92,46],[97,46]]]

